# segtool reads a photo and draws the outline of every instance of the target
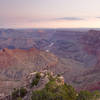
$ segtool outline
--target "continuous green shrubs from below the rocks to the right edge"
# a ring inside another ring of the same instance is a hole
[[[100,92],[80,91],[67,84],[57,85],[55,80],[46,84],[45,88],[33,91],[31,100],[98,100]]]

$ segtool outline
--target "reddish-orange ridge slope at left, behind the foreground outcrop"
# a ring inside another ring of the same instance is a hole
[[[11,77],[13,77],[15,72],[16,75],[18,74],[18,78],[20,78],[32,69],[41,70],[49,66],[55,66],[57,61],[57,57],[53,54],[38,51],[35,48],[29,50],[3,49],[0,51],[0,74],[3,74],[2,70],[5,70],[9,77],[9,71],[12,71]],[[16,75],[13,78],[16,79]]]

